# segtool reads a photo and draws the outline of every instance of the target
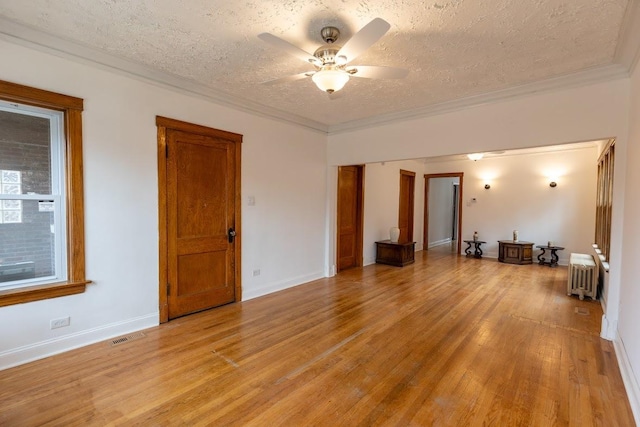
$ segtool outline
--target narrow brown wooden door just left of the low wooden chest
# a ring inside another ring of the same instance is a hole
[[[338,272],[362,266],[364,166],[338,168]]]

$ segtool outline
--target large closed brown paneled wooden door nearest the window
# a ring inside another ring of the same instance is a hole
[[[166,169],[159,177],[165,179],[165,320],[240,299],[241,136],[177,127],[164,129]]]

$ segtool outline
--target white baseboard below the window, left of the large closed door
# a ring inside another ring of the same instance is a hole
[[[7,350],[0,353],[0,371],[158,324],[159,313],[155,312]]]

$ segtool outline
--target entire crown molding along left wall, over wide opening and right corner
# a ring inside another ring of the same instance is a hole
[[[126,75],[139,81],[170,89],[178,93],[205,99],[238,111],[298,125],[323,134],[333,135],[380,126],[381,124],[391,124],[394,122],[450,113],[479,105],[497,103],[507,99],[525,97],[534,93],[550,92],[613,79],[628,78],[630,70],[638,63],[638,57],[640,56],[639,3],[640,0],[631,0],[625,13],[625,22],[623,23],[620,42],[618,43],[618,49],[616,50],[614,58],[616,61],[615,64],[417,109],[383,114],[336,125],[327,125],[326,123],[288,113],[271,106],[254,102],[250,99],[231,95],[193,80],[159,71],[138,62],[120,58],[108,52],[90,48],[2,17],[0,17],[0,38],[59,57],[71,59],[75,62],[97,66],[98,68]]]

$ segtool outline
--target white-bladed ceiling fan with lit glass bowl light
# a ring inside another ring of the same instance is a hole
[[[313,65],[315,70],[294,74],[265,82],[265,84],[284,83],[311,77],[318,89],[329,94],[344,87],[349,77],[369,79],[401,79],[409,74],[409,70],[394,67],[348,65],[358,55],[371,47],[389,31],[391,25],[381,18],[375,18],[353,35],[344,46],[336,44],[340,30],[336,27],[324,27],[320,35],[325,44],[311,55],[270,33],[259,34],[258,37],[272,46],[280,48],[290,55]]]

